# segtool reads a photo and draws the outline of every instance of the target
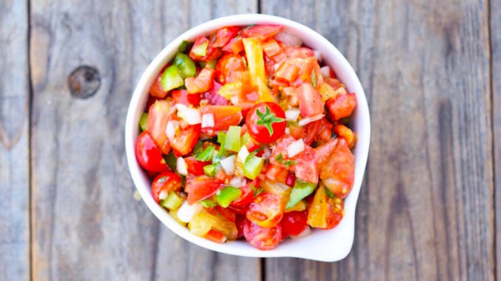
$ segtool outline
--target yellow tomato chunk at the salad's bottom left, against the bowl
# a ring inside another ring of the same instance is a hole
[[[210,229],[222,232],[229,240],[236,239],[238,233],[234,222],[203,211],[193,216],[188,227],[191,233],[201,237],[205,236]]]

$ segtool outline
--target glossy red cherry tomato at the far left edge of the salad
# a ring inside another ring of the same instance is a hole
[[[143,131],[136,139],[136,158],[145,170],[161,172],[169,169],[163,159],[160,148],[148,131]]]

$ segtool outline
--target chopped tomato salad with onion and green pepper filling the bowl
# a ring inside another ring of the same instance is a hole
[[[283,26],[183,41],[149,94],[136,157],[191,233],[267,250],[343,218],[355,93]]]

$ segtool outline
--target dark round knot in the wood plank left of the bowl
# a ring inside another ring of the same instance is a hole
[[[96,67],[80,65],[68,76],[68,85],[74,97],[88,98],[101,87],[101,75]]]

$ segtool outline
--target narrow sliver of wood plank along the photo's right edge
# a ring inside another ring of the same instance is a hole
[[[496,280],[501,280],[501,1],[490,0],[492,128],[496,218]]]

